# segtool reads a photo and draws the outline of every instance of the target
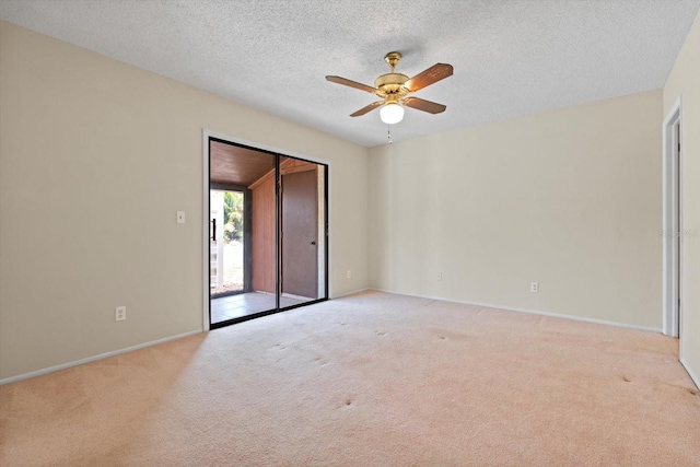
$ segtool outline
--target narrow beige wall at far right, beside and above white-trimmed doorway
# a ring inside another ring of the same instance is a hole
[[[680,353],[688,371],[700,384],[700,16],[690,30],[686,43],[664,86],[666,116],[681,96],[681,186],[682,230],[682,296],[680,316]]]

